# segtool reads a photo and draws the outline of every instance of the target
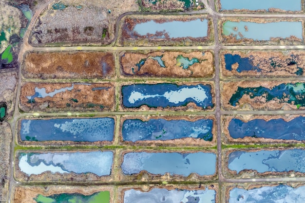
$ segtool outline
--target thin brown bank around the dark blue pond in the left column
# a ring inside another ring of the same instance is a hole
[[[114,123],[116,123],[116,117],[115,116],[107,116],[110,118],[114,118]],[[49,120],[49,119],[54,119],[55,117],[42,117],[41,120]],[[57,119],[59,117],[56,117]],[[67,117],[60,117],[60,118],[67,118]],[[69,118],[73,118],[73,117],[69,117]],[[79,117],[77,117],[79,118]],[[82,117],[82,118],[86,118],[86,117]],[[91,117],[92,118],[92,117]],[[96,117],[97,118],[97,117]],[[31,117],[31,119],[39,119],[38,117]],[[63,147],[63,146],[69,146],[69,147],[79,147],[79,146],[108,146],[108,145],[112,145],[114,143],[114,141],[98,141],[98,142],[73,142],[73,141],[22,141],[21,137],[20,137],[20,129],[21,129],[21,121],[23,119],[18,120],[17,123],[17,133],[16,133],[16,137],[15,140],[18,141],[18,144],[20,146],[25,146],[25,147],[39,147],[39,146],[56,146],[56,147]]]

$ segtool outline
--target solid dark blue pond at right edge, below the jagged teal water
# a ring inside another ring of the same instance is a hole
[[[305,117],[299,116],[291,121],[282,118],[265,121],[253,119],[248,122],[233,118],[229,123],[232,138],[263,137],[283,140],[305,140]]]

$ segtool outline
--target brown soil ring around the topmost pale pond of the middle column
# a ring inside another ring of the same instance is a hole
[[[191,21],[196,19],[208,19],[208,35],[207,37],[177,37],[171,38],[165,34],[164,38],[156,38],[157,36],[162,36],[162,32],[157,32],[156,34],[149,34],[141,36],[137,32],[133,32],[133,28],[136,24],[146,22],[149,20],[154,20],[156,22],[171,22],[174,20],[177,21]],[[206,15],[198,16],[149,16],[143,18],[143,16],[129,16],[121,20],[120,23],[120,41],[119,45],[121,46],[192,46],[192,45],[210,45],[214,40],[214,31],[211,18],[208,18]]]

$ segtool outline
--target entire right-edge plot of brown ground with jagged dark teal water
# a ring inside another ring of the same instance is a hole
[[[304,85],[298,81],[221,82],[221,108],[225,111],[304,110]]]

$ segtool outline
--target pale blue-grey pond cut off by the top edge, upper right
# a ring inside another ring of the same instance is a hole
[[[301,0],[220,0],[221,10],[248,9],[268,10],[277,8],[285,11],[301,11]]]

